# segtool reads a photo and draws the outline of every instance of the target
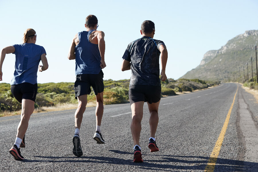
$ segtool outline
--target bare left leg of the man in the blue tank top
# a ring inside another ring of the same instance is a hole
[[[82,122],[82,118],[83,118],[83,113],[86,110],[86,105],[87,105],[87,94],[86,95],[80,95],[79,97],[77,97],[78,99],[78,108],[75,111],[75,129],[76,128],[81,128],[81,122]]]

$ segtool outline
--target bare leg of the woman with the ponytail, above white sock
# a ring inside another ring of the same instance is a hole
[[[29,99],[22,99],[21,101],[21,121],[17,128],[17,137],[24,138],[24,135],[28,129],[30,116],[34,111],[34,101]]]

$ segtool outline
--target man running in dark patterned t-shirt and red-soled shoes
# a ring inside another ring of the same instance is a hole
[[[159,151],[155,133],[159,115],[158,108],[161,99],[161,83],[159,79],[159,57],[161,58],[161,80],[165,81],[167,64],[167,48],[164,42],[153,39],[155,25],[146,20],[142,23],[142,38],[131,42],[123,55],[122,71],[132,71],[129,85],[129,100],[132,109],[131,132],[134,140],[134,162],[143,162],[140,148],[141,121],[143,104],[147,101],[150,112],[150,152]]]

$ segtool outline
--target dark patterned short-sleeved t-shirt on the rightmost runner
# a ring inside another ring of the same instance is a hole
[[[130,85],[161,86],[159,79],[159,46],[163,41],[143,36],[131,42],[124,52],[123,59],[131,62]]]

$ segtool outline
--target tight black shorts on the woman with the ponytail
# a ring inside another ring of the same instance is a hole
[[[29,99],[35,102],[38,84],[21,83],[11,85],[11,92],[19,103],[21,103],[22,99]]]

